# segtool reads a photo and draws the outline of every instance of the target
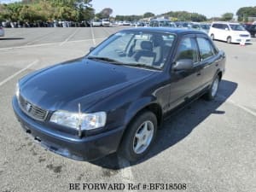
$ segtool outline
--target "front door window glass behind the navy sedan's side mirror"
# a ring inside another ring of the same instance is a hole
[[[176,61],[183,59],[189,59],[193,62],[199,61],[195,38],[183,38],[178,45]]]

